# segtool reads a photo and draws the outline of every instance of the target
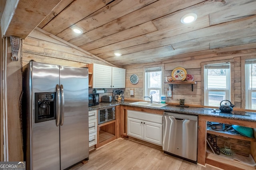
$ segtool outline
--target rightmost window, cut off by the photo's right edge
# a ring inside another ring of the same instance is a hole
[[[256,110],[256,59],[245,61],[245,107]]]

